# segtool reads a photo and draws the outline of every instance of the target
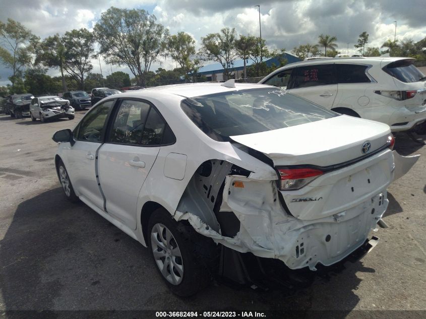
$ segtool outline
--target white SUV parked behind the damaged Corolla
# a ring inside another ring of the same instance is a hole
[[[426,120],[426,77],[413,58],[347,57],[290,63],[259,83],[289,92],[338,113],[408,131]]]

